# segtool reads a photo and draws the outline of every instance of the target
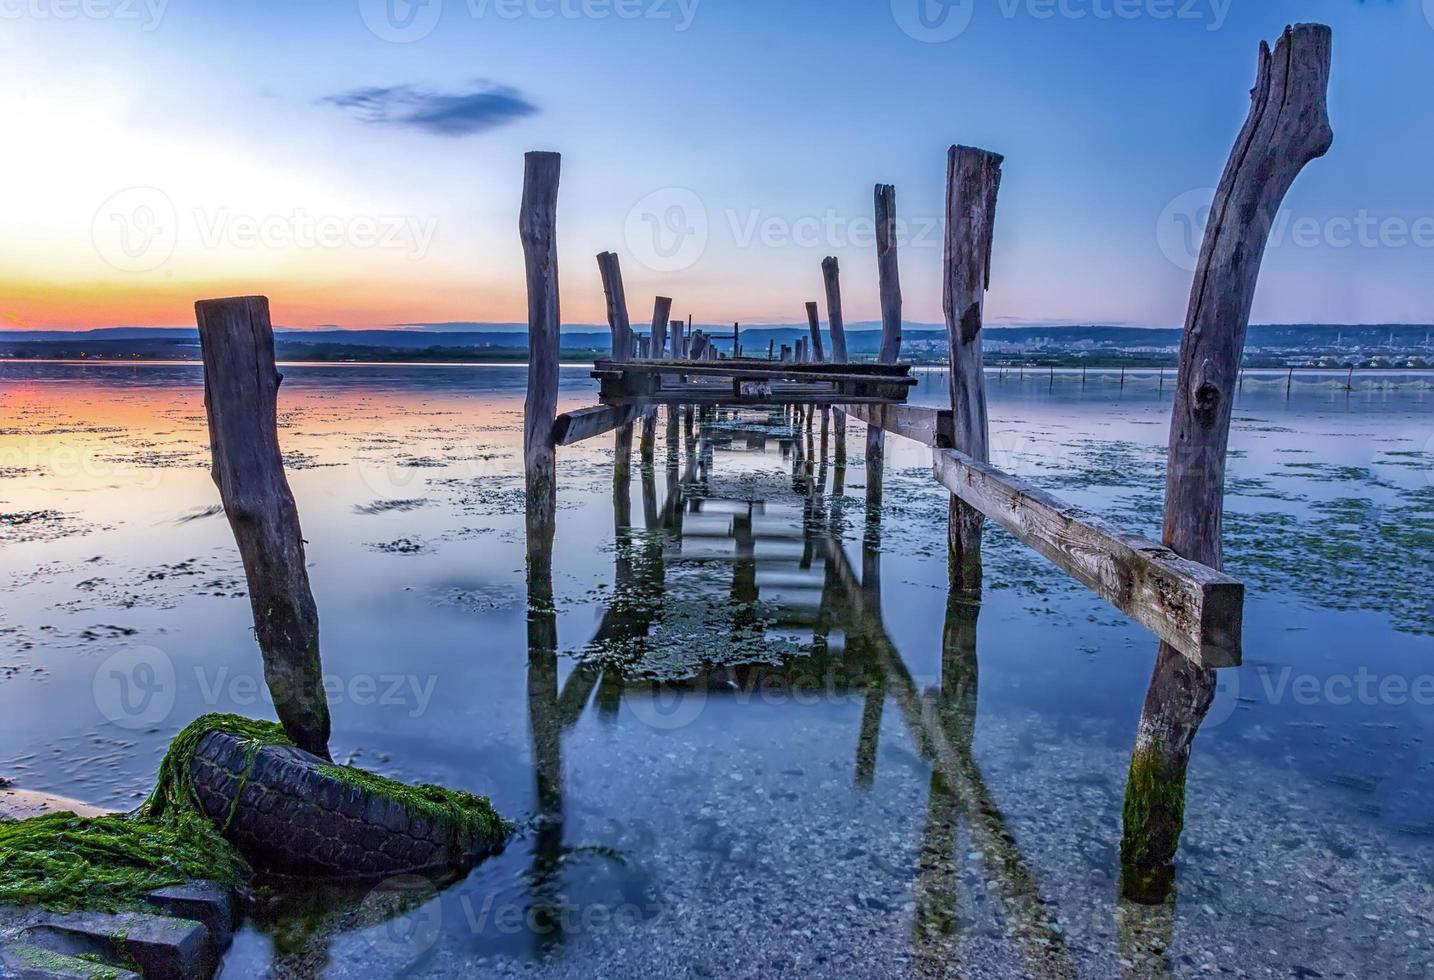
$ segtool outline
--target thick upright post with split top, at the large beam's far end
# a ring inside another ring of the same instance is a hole
[[[988,462],[985,374],[981,369],[981,324],[991,284],[991,242],[1002,156],[974,146],[946,152],[946,245],[942,308],[951,347],[951,416],[954,448]],[[951,587],[981,590],[981,512],[951,496],[948,551]]]

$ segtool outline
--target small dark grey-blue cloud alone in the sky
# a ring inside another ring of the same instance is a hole
[[[516,89],[475,83],[469,92],[429,92],[412,85],[354,89],[320,99],[356,119],[407,126],[435,136],[467,136],[538,112]]]

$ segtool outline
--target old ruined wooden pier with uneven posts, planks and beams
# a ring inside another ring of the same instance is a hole
[[[1220,179],[1190,293],[1172,413],[1164,534],[1159,542],[1121,531],[989,462],[981,340],[984,297],[992,275],[999,155],[969,146],[952,146],[948,154],[942,306],[951,354],[949,407],[906,403],[915,379],[908,366],[898,363],[902,294],[896,191],[879,184],[873,194],[882,320],[876,363],[847,359],[835,258],[822,263],[830,357],[815,301],[804,304],[810,336],[794,349],[783,346],[780,352],[769,349],[766,357],[751,357],[743,356],[736,324],[727,356],[713,343],[714,334],[671,320],[671,297],[655,297],[651,330],[635,334],[618,255],[602,253],[598,267],[612,354],[594,366],[597,403],[558,415],[559,158],[528,154],[519,228],[531,344],[525,469],[533,663],[548,664],[556,650],[556,624],[548,610],[558,446],[615,432],[614,492],[618,507],[625,508],[618,498],[628,496],[632,426],[642,422],[641,453],[651,462],[661,406],[668,409],[670,445],[675,445],[680,412],[691,432],[694,406],[777,406],[799,413],[809,428],[820,409],[823,438],[835,422],[839,465],[846,459],[845,419],[850,415],[866,423],[866,495],[876,512],[885,433],[931,448],[935,481],[951,494],[946,537],[954,597],[967,604],[979,601],[981,534],[989,518],[1159,639],[1126,786],[1121,891],[1139,901],[1163,901],[1173,887],[1190,742],[1213,697],[1213,670],[1240,663],[1245,590],[1220,570],[1220,511],[1245,330],[1273,215],[1299,171],[1331,143],[1325,110],[1329,62],[1329,30],[1319,24],[1286,29],[1273,52],[1260,44],[1249,118]],[[839,542],[832,547],[840,551]],[[845,555],[833,555],[833,575],[846,583],[843,588],[866,597],[868,607],[879,603],[879,585],[866,575],[858,581]],[[912,725],[919,725],[915,707],[906,703],[909,679],[891,657],[885,663],[886,690],[896,694]],[[535,683],[554,684],[555,672],[555,663],[542,666]],[[539,746],[539,755],[543,750],[554,746]],[[954,749],[946,756],[942,765],[954,785],[969,783],[971,778],[962,775],[969,773],[969,753]],[[543,792],[559,791],[548,782],[539,788],[541,798]]]

